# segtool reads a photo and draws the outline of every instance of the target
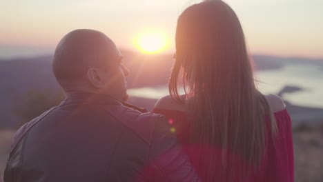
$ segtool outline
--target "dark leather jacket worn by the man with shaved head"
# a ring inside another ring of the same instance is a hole
[[[4,181],[197,181],[170,128],[103,94],[71,94],[19,129]]]

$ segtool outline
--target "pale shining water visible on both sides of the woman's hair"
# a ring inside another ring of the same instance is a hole
[[[323,66],[306,63],[288,63],[276,70],[262,70],[255,73],[257,87],[264,94],[277,94],[285,86],[302,90],[286,92],[285,101],[293,105],[323,108]],[[135,88],[128,90],[130,96],[160,99],[168,94],[167,86]]]

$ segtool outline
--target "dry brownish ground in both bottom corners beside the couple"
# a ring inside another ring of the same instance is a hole
[[[323,122],[322,122],[323,123]],[[0,131],[0,182],[14,131]],[[293,129],[295,182],[323,181],[323,124],[298,125]]]

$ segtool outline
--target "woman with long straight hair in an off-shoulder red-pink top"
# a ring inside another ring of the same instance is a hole
[[[154,112],[170,119],[202,181],[293,181],[291,119],[280,97],[255,87],[242,26],[223,1],[179,16],[169,91]]]

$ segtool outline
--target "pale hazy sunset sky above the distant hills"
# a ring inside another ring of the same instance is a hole
[[[147,29],[165,32],[174,50],[178,15],[192,0],[1,0],[0,54],[14,48],[53,50],[77,28],[101,30],[120,48]],[[323,57],[322,0],[226,0],[254,54]]]

